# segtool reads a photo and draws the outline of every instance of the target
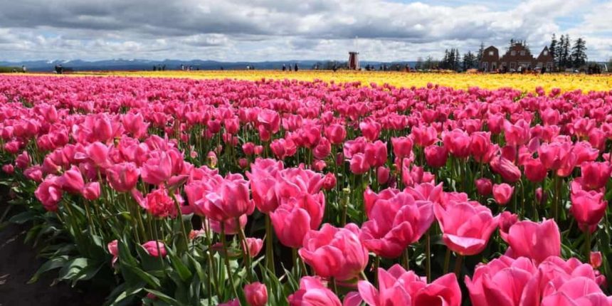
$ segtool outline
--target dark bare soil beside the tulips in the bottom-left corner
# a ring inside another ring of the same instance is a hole
[[[67,283],[51,287],[57,270],[46,273],[36,283],[27,284],[43,263],[36,258],[36,250],[23,243],[27,229],[14,224],[0,228],[0,306],[102,305],[102,292],[83,292]]]

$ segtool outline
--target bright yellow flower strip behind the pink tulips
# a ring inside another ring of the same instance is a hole
[[[515,88],[522,91],[534,91],[541,86],[547,92],[552,88],[561,90],[612,90],[612,75],[584,74],[482,74],[482,73],[406,73],[396,71],[327,71],[302,70],[283,72],[279,70],[199,70],[199,71],[110,71],[104,73],[78,73],[78,75],[115,75],[142,76],[157,78],[194,78],[194,79],[238,79],[238,80],[324,80],[337,83],[361,82],[362,85],[388,83],[396,87],[423,87],[428,83],[451,88],[465,89],[474,86],[480,88]]]

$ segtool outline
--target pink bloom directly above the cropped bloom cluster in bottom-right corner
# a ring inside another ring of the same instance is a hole
[[[561,255],[561,235],[552,219],[542,223],[519,221],[510,226],[505,241],[510,245],[506,255],[513,258],[524,256],[541,263],[549,256]]]

